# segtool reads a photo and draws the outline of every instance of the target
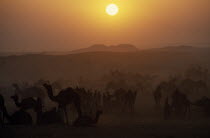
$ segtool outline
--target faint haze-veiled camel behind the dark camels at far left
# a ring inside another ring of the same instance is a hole
[[[22,98],[39,97],[43,99],[45,97],[44,91],[36,86],[21,89],[18,84],[13,84],[13,87],[15,88],[15,93],[20,94]]]

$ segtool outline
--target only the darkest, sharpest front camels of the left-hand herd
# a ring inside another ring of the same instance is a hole
[[[17,86],[14,87],[17,88]],[[66,109],[67,105],[69,104],[73,104],[77,109],[78,117],[73,123],[75,126],[91,125],[97,123],[99,116],[102,112],[97,112],[96,119],[92,119],[92,117],[82,115],[81,96],[78,93],[76,93],[74,89],[70,87],[66,88],[64,90],[61,90],[57,96],[54,96],[51,85],[44,84],[43,87],[47,90],[49,98],[53,102],[56,102],[58,104],[58,108],[64,112],[66,122],[64,121],[64,118],[60,115],[59,111],[56,108],[52,108],[50,111],[43,112],[43,98],[37,97],[37,99],[35,100],[33,97],[28,97],[19,101],[18,95],[15,94],[14,96],[11,96],[11,99],[18,107],[18,110],[11,115],[7,112],[4,97],[0,95],[0,123],[4,124],[4,120],[6,118],[8,123],[11,125],[32,125],[32,117],[27,111],[29,109],[33,109],[36,112],[36,123],[38,125],[65,123],[69,124],[67,114],[68,112]]]

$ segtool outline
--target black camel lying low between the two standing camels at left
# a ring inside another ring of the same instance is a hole
[[[35,107],[35,112],[37,113],[37,124],[47,125],[47,124],[64,124],[63,119],[60,114],[53,108],[50,111],[43,112],[43,105],[40,98],[37,99],[37,105]]]

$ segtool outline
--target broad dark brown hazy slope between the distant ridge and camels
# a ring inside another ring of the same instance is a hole
[[[98,48],[98,46],[97,46]],[[106,48],[105,48],[106,49]],[[137,52],[86,52],[69,55],[28,54],[0,57],[0,82],[98,78],[113,69],[169,74],[192,64],[210,68],[210,49],[159,48]]]

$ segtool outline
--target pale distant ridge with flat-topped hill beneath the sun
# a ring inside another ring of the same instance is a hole
[[[89,53],[89,52],[142,52],[142,51],[196,51],[196,50],[209,50],[210,47],[194,47],[189,45],[178,45],[178,46],[166,46],[161,48],[151,48],[151,49],[138,49],[131,44],[120,44],[106,46],[104,44],[95,44],[87,48],[76,49],[72,51],[46,51],[46,52],[0,52],[0,56],[21,56],[21,55],[69,55],[69,54],[79,54],[79,53]]]

